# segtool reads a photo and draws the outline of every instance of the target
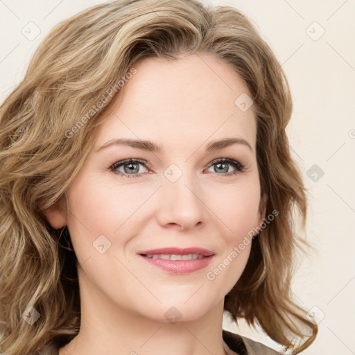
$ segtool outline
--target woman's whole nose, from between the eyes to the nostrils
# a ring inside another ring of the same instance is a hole
[[[178,224],[188,229],[203,221],[205,206],[202,189],[192,171],[171,164],[164,171],[159,200],[159,222],[162,225]]]

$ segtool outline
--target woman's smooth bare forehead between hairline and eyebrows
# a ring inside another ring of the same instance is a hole
[[[241,110],[239,97],[251,96],[243,79],[225,61],[189,55],[166,61],[147,58],[134,65],[109,114],[96,146],[116,138],[147,139],[163,146],[182,140],[242,137],[254,146],[252,107]],[[244,95],[244,96],[243,96]]]

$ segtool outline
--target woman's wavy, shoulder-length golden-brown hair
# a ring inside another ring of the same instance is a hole
[[[192,54],[224,60],[248,86],[261,196],[268,197],[260,207],[266,215],[278,211],[253,240],[224,311],[236,322],[259,324],[292,354],[313,343],[317,324],[291,291],[296,253],[304,251],[302,243],[310,245],[295,225],[297,212],[304,230],[307,198],[285,131],[293,104],[281,65],[236,8],[197,0],[120,0],[55,26],[0,106],[1,352],[28,354],[78,334],[76,255],[67,226],[54,229],[43,210],[60,200],[80,170],[94,144],[94,128],[121,95],[117,82],[126,81],[132,65]],[[104,98],[101,110],[93,110]],[[23,317],[28,307],[40,313],[33,324]]]

